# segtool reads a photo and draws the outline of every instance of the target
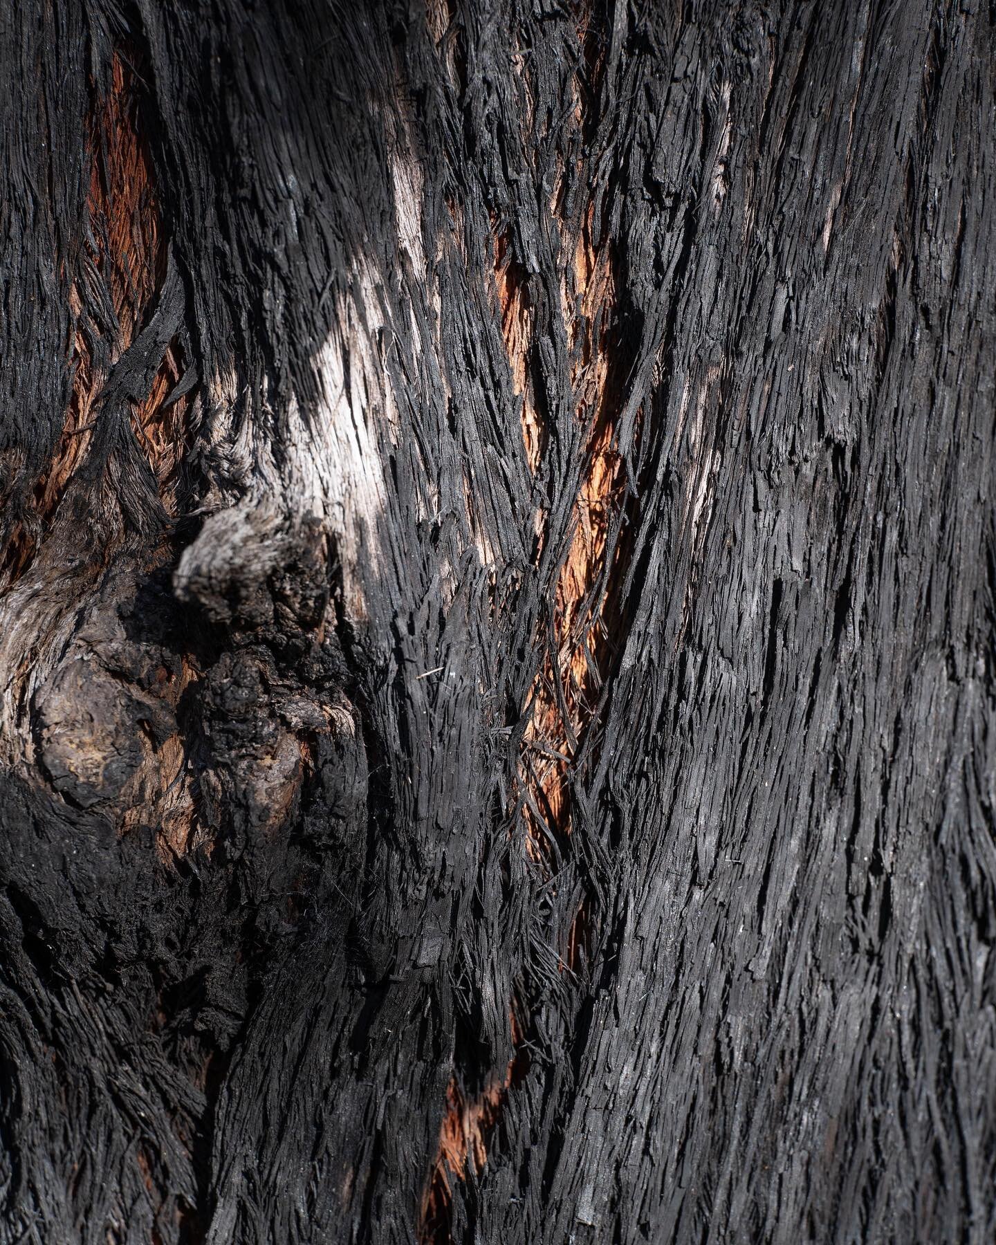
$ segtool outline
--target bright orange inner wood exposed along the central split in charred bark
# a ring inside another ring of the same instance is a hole
[[[585,37],[585,57],[591,75],[598,71],[594,41]],[[584,125],[581,91],[574,123]],[[525,850],[540,862],[547,855],[547,835],[537,824],[542,815],[554,835],[571,830],[568,772],[585,731],[591,723],[601,687],[609,644],[605,615],[611,599],[609,528],[622,504],[622,463],[616,449],[616,420],[624,400],[613,319],[616,278],[610,247],[595,234],[594,203],[589,204],[580,233],[560,219],[561,186],[550,200],[566,251],[561,279],[561,314],[571,356],[573,405],[584,430],[580,483],[574,502],[573,532],[557,578],[553,600],[553,655],[544,662],[532,692],[532,715],[525,731],[522,776],[529,799],[524,804]],[[522,398],[522,432],[527,462],[540,471],[548,435],[532,397],[530,355],[534,321],[525,284],[512,253],[507,232],[496,232],[494,279],[502,335],[512,369],[512,385]],[[540,534],[543,540],[543,534]],[[538,812],[537,812],[538,810]],[[565,967],[574,969],[584,955],[589,914],[581,904],[571,921]],[[520,1036],[513,1017],[513,1038]],[[439,1144],[422,1206],[421,1239],[449,1241],[449,1177],[462,1179],[473,1163],[479,1173],[487,1160],[487,1140],[498,1118],[517,1056],[504,1082],[467,1101],[451,1081],[439,1129]]]

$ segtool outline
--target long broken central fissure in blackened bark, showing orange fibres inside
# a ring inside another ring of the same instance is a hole
[[[570,126],[576,136],[591,139],[599,97],[600,75],[609,42],[605,12],[585,12],[578,20],[576,77],[570,83]],[[523,61],[523,67],[525,62]],[[535,110],[535,95],[528,70],[523,85],[529,105],[523,125],[529,133]],[[529,141],[528,138],[525,139]],[[571,143],[568,142],[568,152]],[[593,728],[614,647],[614,635],[605,620],[620,625],[625,609],[616,599],[625,565],[619,561],[622,508],[626,502],[622,459],[618,449],[618,420],[627,397],[626,382],[632,360],[622,345],[616,308],[618,264],[606,235],[608,202],[611,188],[599,188],[593,198],[581,198],[574,215],[563,217],[565,157],[557,154],[558,179],[550,197],[550,230],[555,268],[560,271],[558,301],[550,308],[550,327],[559,335],[565,351],[564,410],[579,432],[579,463],[566,527],[548,530],[549,505],[540,504],[535,515],[537,564],[545,542],[554,537],[561,548],[547,610],[540,614],[542,629],[537,651],[545,654],[525,706],[523,759],[519,776],[523,786],[520,824],[524,850],[548,876],[554,853],[563,850],[571,833],[571,784],[580,746]],[[579,168],[584,161],[578,159]],[[576,169],[574,171],[576,174]],[[530,306],[530,279],[514,253],[509,230],[496,230],[496,288],[502,336],[512,375],[512,391],[520,402],[523,446],[534,479],[542,482],[544,456],[555,446],[537,407],[537,331],[539,322]],[[533,278],[535,283],[535,278]],[[639,426],[639,413],[636,425]],[[563,433],[561,433],[563,435]],[[639,438],[629,446],[639,457]],[[544,634],[545,630],[545,634]],[[561,844],[553,848],[553,844]],[[575,901],[565,936],[559,969],[571,974],[581,970],[589,941],[589,905]],[[527,1016],[522,1028],[513,1018],[513,1056],[503,1078],[497,1078],[482,1094],[468,1099],[456,1079],[447,1089],[438,1154],[433,1163],[423,1204],[421,1235],[425,1240],[448,1241],[453,1236],[452,1189],[449,1178],[464,1174],[481,1177],[487,1159],[489,1137],[508,1093],[524,1077],[523,1042],[532,1035]],[[528,1045],[528,1043],[527,1043]],[[513,1087],[513,1088],[510,1088]]]

